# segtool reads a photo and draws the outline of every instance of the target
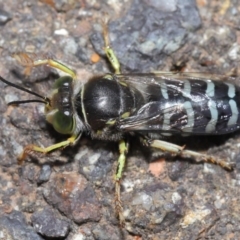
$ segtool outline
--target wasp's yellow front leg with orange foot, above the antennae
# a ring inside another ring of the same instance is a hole
[[[55,59],[52,58],[46,58],[46,59],[38,59],[38,60],[33,60],[31,59],[30,56],[28,56],[27,53],[19,53],[13,55],[13,57],[18,60],[26,69],[29,71],[29,69],[33,67],[37,67],[40,65],[48,65],[49,67],[59,69],[67,74],[69,74],[73,79],[76,79],[76,73],[67,67],[66,65],[58,62]]]

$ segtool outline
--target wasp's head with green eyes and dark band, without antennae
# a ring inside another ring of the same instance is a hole
[[[45,107],[47,121],[62,134],[71,134],[74,128],[72,81],[69,76],[57,79],[50,96],[50,104]]]

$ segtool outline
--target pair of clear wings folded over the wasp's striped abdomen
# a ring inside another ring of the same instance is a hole
[[[229,77],[199,73],[116,76],[145,99],[130,117],[119,120],[122,131],[222,134],[238,127],[238,109],[235,100],[229,103],[229,94],[239,88],[226,81]]]

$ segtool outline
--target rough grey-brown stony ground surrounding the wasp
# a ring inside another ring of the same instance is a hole
[[[57,73],[29,76],[11,56],[53,56],[80,81],[110,72],[101,21],[122,72],[238,72],[240,1],[0,0],[0,75],[43,95]],[[100,56],[100,57],[99,57]],[[238,79],[236,83],[240,85]],[[122,182],[126,228],[114,211],[116,143],[92,141],[17,164],[30,143],[64,139],[41,104],[8,107],[26,93],[0,82],[0,239],[239,239],[240,135],[181,140],[236,163],[232,172],[178,157],[157,158],[132,141]]]

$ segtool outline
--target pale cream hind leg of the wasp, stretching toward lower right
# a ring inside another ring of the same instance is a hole
[[[197,162],[204,161],[208,163],[209,162],[214,163],[228,170],[232,170],[233,168],[232,163],[228,163],[223,159],[218,159],[210,155],[206,155],[206,154],[202,154],[202,153],[198,153],[190,150],[185,150],[184,147],[181,147],[169,142],[165,142],[161,140],[147,140],[147,145],[149,145],[150,147],[161,149],[164,152],[180,155],[184,158],[194,158]]]

